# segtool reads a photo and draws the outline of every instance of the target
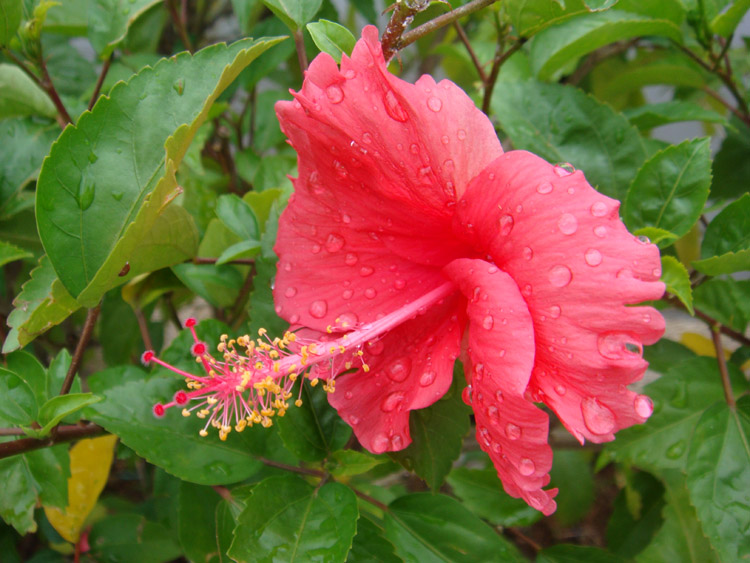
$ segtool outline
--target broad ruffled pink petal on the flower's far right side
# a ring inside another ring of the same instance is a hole
[[[518,284],[534,321],[529,391],[581,441],[604,442],[650,409],[627,389],[664,331],[651,307],[664,285],[659,251],[628,233],[619,202],[583,173],[523,151],[506,153],[459,203],[454,229]],[[471,225],[471,228],[468,227]]]

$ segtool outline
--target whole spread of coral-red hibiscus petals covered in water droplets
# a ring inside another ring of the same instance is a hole
[[[581,171],[503,153],[455,84],[390,74],[374,27],[340,68],[319,55],[276,111],[299,177],[279,221],[274,299],[293,327],[338,338],[331,353],[356,349],[358,362],[322,370],[349,368],[331,405],[368,450],[401,450],[410,411],[445,394],[460,356],[477,439],[506,491],[553,512],[536,403],[581,443],[650,416],[627,386],[664,330],[656,310],[631,306],[664,291],[658,249]]]

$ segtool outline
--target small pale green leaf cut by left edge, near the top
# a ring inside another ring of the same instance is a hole
[[[0,63],[0,119],[41,115],[55,117],[49,96],[14,65]]]

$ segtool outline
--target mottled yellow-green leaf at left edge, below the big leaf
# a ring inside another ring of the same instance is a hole
[[[67,292],[47,256],[39,259],[39,266],[31,271],[21,293],[13,300],[13,311],[8,315],[8,333],[3,353],[26,346],[43,332],[60,324],[80,305]]]

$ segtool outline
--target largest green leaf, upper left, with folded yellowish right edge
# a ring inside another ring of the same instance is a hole
[[[163,247],[144,255],[140,245],[179,194],[175,170],[214,100],[277,41],[164,59],[118,83],[53,145],[37,184],[37,222],[60,280],[81,304],[182,259]],[[130,274],[119,276],[128,262]]]

